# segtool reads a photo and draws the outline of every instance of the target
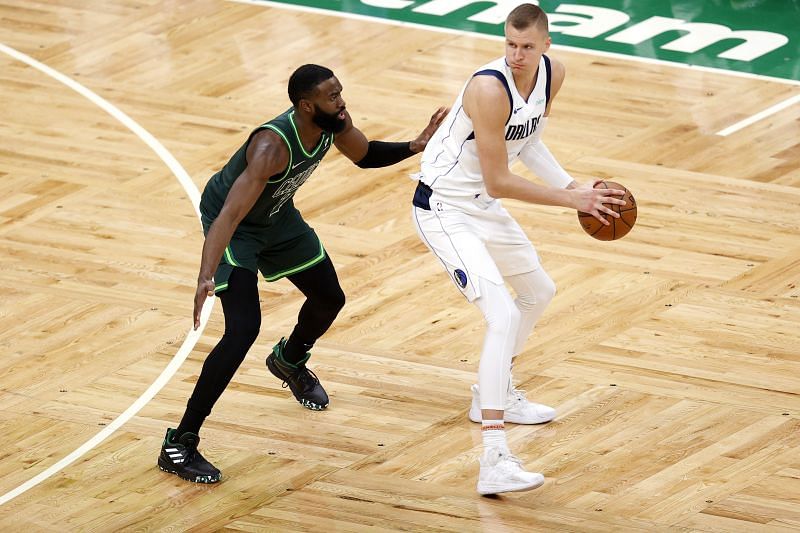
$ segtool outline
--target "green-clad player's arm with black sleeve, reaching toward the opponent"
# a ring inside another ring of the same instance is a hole
[[[337,135],[334,144],[340,152],[361,168],[386,167],[424,150],[447,112],[448,109],[445,107],[437,109],[422,132],[408,142],[368,141],[364,133],[353,125],[348,113],[347,125],[344,131]]]

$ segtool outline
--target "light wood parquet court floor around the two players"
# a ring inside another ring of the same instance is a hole
[[[0,42],[129,114],[198,188],[288,107],[302,63],[331,67],[369,137],[411,138],[498,41],[223,1],[0,2]],[[160,472],[219,305],[174,378],[63,471],[0,507],[8,531],[786,531],[800,529],[800,106],[714,135],[800,89],[553,51],[546,135],[581,179],[639,203],[618,242],[565,209],[506,205],[558,295],[520,356],[558,408],[512,426],[547,481],[481,498],[467,420],[482,341],[410,222],[418,157],[359,170],[331,153],[297,203],[348,303],[313,367],[330,409],[264,368],[301,299],[262,283],[261,335],[203,428],[224,474]],[[743,95],[747,95],[746,98]],[[0,54],[0,494],[125,411],[190,327],[202,234],[185,191],[130,130]]]

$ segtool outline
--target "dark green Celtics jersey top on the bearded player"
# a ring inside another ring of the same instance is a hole
[[[307,152],[300,141],[300,135],[294,123],[293,107],[253,130],[247,138],[247,142],[233,154],[230,161],[222,167],[222,170],[212,176],[203,190],[200,200],[200,213],[207,223],[210,223],[219,215],[233,183],[247,167],[247,147],[250,145],[253,135],[263,129],[274,131],[286,143],[289,149],[289,164],[286,165],[285,171],[269,178],[264,192],[261,193],[253,208],[239,223],[236,231],[237,233],[256,234],[264,231],[269,233],[280,231],[280,233],[297,234],[301,228],[284,226],[287,224],[288,226],[297,226],[302,223],[306,230],[308,226],[300,218],[292,198],[297,189],[314,172],[314,169],[317,168],[330,149],[333,144],[333,134],[322,132],[317,146],[310,153]],[[296,216],[293,217],[291,216],[292,214]],[[292,220],[294,222],[291,222]],[[281,226],[276,227],[282,222]],[[283,235],[283,237],[287,236]]]

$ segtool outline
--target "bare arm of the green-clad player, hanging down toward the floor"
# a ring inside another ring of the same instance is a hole
[[[214,272],[236,226],[253,208],[269,177],[285,170],[288,164],[289,151],[277,134],[264,130],[250,141],[247,147],[247,168],[233,183],[222,210],[211,224],[203,243],[200,273],[194,295],[194,329],[200,327],[203,302],[206,297],[214,294]]]

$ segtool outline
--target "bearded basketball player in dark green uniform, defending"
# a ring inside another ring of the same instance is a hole
[[[421,152],[447,110],[438,109],[410,142],[368,141],[353,126],[342,85],[329,69],[303,65],[289,79],[292,107],[257,127],[206,185],[200,201],[203,244],[194,299],[194,327],[207,296],[216,294],[225,333],[208,354],[176,429],[168,429],[158,466],[183,479],[216,483],[220,472],[197,451],[198,433],[233,378],[261,326],[258,272],[286,277],[306,296],[297,325],[266,360],[267,368],[304,407],[328,406],[308,369],[309,350],[344,306],[336,270],[292,198],[332,145],[361,168],[392,165]]]

